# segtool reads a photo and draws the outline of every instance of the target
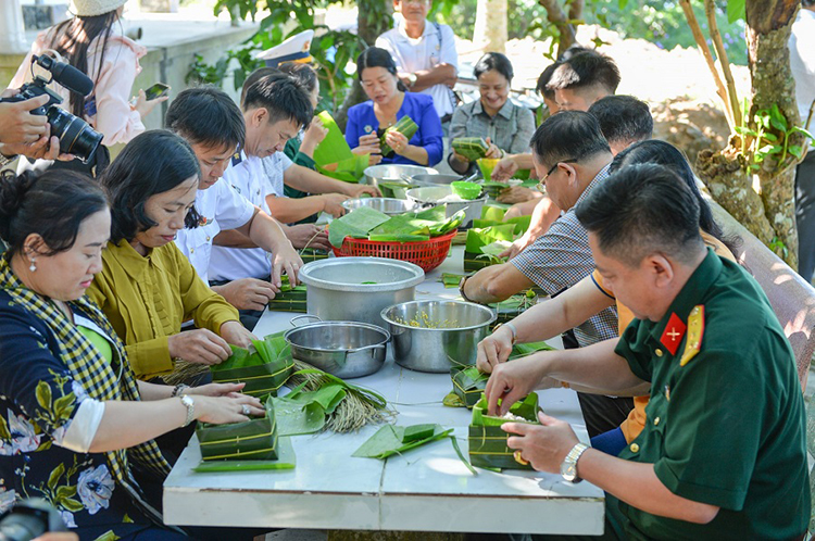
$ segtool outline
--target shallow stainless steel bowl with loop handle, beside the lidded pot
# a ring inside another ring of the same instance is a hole
[[[385,364],[390,334],[365,323],[319,322],[284,335],[291,356],[339,378],[361,378]]]

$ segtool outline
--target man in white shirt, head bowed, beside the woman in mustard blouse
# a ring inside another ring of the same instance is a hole
[[[271,253],[272,261],[266,262],[269,280],[244,276],[213,288],[239,310],[262,309],[279,291],[281,270],[297,281],[297,273],[303,263],[277,221],[227,183],[218,181],[246,134],[240,110],[221,90],[192,88],[173,101],[166,125],[187,139],[201,165],[196,194],[196,210],[201,215],[201,223],[195,229],[181,229],[176,244],[204,281],[208,281],[212,243],[221,230],[236,229],[263,247],[261,251]]]

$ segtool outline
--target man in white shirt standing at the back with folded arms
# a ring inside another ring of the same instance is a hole
[[[397,63],[399,78],[412,92],[432,96],[442,126],[455,110],[452,88],[459,73],[455,35],[448,25],[427,20],[432,0],[393,0],[401,15],[396,28],[376,39]]]

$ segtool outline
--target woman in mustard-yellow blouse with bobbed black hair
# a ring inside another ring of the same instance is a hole
[[[113,223],[88,297],[125,342],[139,379],[172,373],[175,360],[218,364],[230,343],[247,347],[254,338],[173,242],[179,229],[198,225],[199,176],[189,144],[153,130],[130,141],[100,178]],[[188,319],[197,328],[181,331]]]

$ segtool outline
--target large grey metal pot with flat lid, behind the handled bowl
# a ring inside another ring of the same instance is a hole
[[[384,307],[412,301],[425,272],[413,263],[384,257],[328,257],[306,263],[305,307],[323,320],[385,326]]]

